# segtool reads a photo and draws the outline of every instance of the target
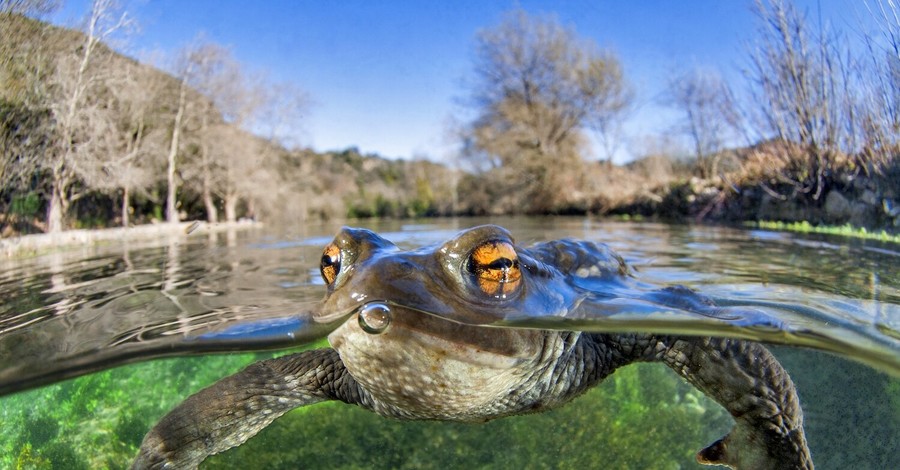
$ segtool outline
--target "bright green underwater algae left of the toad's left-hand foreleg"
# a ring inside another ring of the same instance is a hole
[[[0,398],[0,468],[127,468],[144,434],[184,396],[255,358],[155,361]]]

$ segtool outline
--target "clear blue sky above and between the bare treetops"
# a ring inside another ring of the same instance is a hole
[[[857,28],[860,1],[798,0],[811,18]],[[67,0],[53,18],[76,24],[88,0]],[[199,33],[231,47],[249,70],[305,90],[314,105],[299,142],[317,150],[357,146],[387,157],[447,161],[447,124],[471,114],[460,103],[476,33],[505,12],[552,13],[579,36],[614,50],[637,107],[616,157],[639,154],[644,136],[670,130],[658,104],[666,77],[690,67],[740,78],[755,28],[751,0],[595,1],[123,1],[140,31],[131,55],[174,55]],[[741,81],[743,83],[743,81]],[[599,151],[597,153],[599,156]]]

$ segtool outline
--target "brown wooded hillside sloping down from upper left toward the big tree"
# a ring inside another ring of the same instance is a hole
[[[121,223],[126,211],[129,223],[162,219],[166,157],[172,148],[181,80],[98,44],[90,59],[102,74],[92,80],[102,83],[84,87],[78,103],[84,122],[70,126],[76,134],[74,148],[66,161],[54,162],[47,154],[59,151],[54,145],[66,118],[59,110],[73,86],[67,80],[74,73],[65,67],[82,58],[86,38],[15,15],[0,15],[0,31],[0,56],[5,58],[0,62],[0,213],[4,214],[0,226],[5,233],[46,229],[42,219],[53,193],[53,166],[79,158],[84,161],[73,165],[77,166],[71,172],[73,181],[63,195],[70,199],[68,226]],[[182,217],[207,219],[211,208],[225,210],[229,217],[293,220],[452,212],[452,189],[447,184],[456,176],[444,166],[364,156],[353,148],[288,151],[227,123],[215,100],[193,87],[185,95],[175,169]],[[86,149],[109,153],[88,160],[78,139],[94,139],[93,129],[82,127],[97,125],[101,119],[104,131],[112,128],[125,138]],[[114,165],[123,155],[134,156],[130,166]],[[123,206],[126,189],[131,200]]]

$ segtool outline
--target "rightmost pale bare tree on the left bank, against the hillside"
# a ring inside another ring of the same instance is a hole
[[[275,145],[250,131],[288,140],[283,129],[296,128],[306,95],[248,73],[230,50],[213,43],[198,41],[186,60],[192,71],[187,83],[198,92],[191,100],[197,154],[183,168],[186,178],[199,183],[209,221],[218,220],[217,201],[229,222],[237,219],[242,202],[247,213],[259,203],[273,205],[272,182],[279,177],[271,170]]]

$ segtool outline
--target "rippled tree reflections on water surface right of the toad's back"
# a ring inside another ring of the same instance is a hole
[[[652,227],[652,225],[651,225]],[[653,270],[715,284],[784,285],[900,303],[900,264],[877,244],[712,227],[657,226],[645,233]],[[852,260],[852,262],[848,262]]]

